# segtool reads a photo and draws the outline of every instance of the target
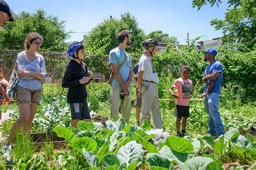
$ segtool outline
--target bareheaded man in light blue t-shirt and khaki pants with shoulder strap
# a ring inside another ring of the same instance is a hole
[[[109,53],[109,63],[111,64],[114,79],[111,83],[110,118],[118,119],[119,108],[126,122],[131,117],[131,95],[130,83],[132,80],[132,59],[125,52],[125,48],[131,44],[130,32],[128,30],[118,33],[119,46]],[[118,67],[124,61],[123,66]]]

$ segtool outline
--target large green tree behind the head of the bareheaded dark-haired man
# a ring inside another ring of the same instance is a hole
[[[129,30],[132,40],[131,47],[126,48],[126,51],[133,54],[142,51],[141,42],[145,39],[144,31],[139,28],[136,18],[127,12],[122,14],[120,19],[104,19],[93,28],[84,37],[86,52],[89,55],[108,55],[111,49],[118,46],[117,34],[122,30]]]

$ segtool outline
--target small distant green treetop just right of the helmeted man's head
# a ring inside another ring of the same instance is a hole
[[[153,38],[157,40],[158,42],[166,42],[166,43],[172,43],[172,44],[179,44],[179,41],[176,37],[169,37],[169,34],[163,33],[161,30],[152,31],[151,33],[147,34],[147,39]]]

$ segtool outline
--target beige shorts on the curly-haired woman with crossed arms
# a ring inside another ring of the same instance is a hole
[[[42,89],[40,90],[30,90],[18,86],[17,89],[17,103],[37,103],[40,104],[42,96]]]

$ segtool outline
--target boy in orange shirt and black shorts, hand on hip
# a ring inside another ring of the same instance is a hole
[[[172,86],[169,89],[169,93],[174,97],[177,98],[176,100],[176,109],[175,109],[175,116],[176,119],[176,129],[177,129],[177,136],[184,137],[185,135],[185,128],[187,124],[187,117],[190,116],[190,95],[192,90],[193,82],[188,80],[187,77],[190,75],[190,67],[183,66],[181,68],[181,78],[174,81]],[[177,93],[173,93],[172,89],[176,88]],[[181,124],[181,132],[180,132],[180,121],[182,118]]]

